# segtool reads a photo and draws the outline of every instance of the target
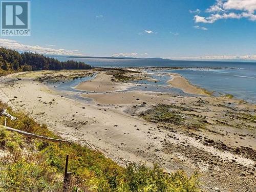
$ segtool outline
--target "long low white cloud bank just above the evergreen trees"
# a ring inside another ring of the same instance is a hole
[[[30,45],[20,44],[16,40],[12,40],[12,39],[0,38],[0,47],[14,49],[17,51],[36,52],[39,54],[81,56],[81,54],[76,53],[76,52],[80,52],[79,50],[53,49],[53,48],[44,48],[44,47],[40,47],[40,46],[30,46]]]

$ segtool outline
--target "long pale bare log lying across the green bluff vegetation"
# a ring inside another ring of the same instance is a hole
[[[16,129],[13,129],[11,127],[4,126],[4,125],[0,125],[0,128],[5,129],[7,131],[11,131],[11,132],[17,132],[19,134],[25,135],[26,137],[30,137],[30,138],[42,139],[42,140],[47,140],[47,141],[52,141],[52,142],[73,143],[72,141],[67,141],[67,140],[63,140],[63,139],[54,139],[51,137],[45,137],[45,136],[36,135],[36,134],[28,133],[25,131],[21,131],[21,130],[16,130]]]

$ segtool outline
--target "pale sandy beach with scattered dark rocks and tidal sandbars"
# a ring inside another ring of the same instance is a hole
[[[173,79],[169,83],[173,87],[202,97],[116,92],[126,90],[133,83],[113,81],[106,72],[95,71],[94,79],[76,86],[78,90],[88,91],[81,97],[93,99],[91,102],[65,97],[45,81],[37,80],[46,74],[51,74],[51,78],[59,78],[61,74],[67,80],[68,71],[1,77],[0,97],[15,110],[28,112],[39,123],[47,124],[62,138],[87,140],[93,148],[120,164],[158,162],[168,171],[182,168],[189,174],[199,170],[204,189],[208,191],[215,186],[223,191],[255,189],[256,122],[248,120],[250,116],[246,115],[255,114],[255,105],[227,97],[210,97],[177,74],[171,74]],[[92,74],[72,73],[73,76]],[[99,93],[90,93],[94,91]],[[159,104],[161,109],[167,107],[182,119],[180,124],[159,120],[157,115],[162,112],[155,114]],[[157,118],[148,121],[152,114]],[[242,116],[247,119],[239,118]],[[227,181],[232,185],[227,185]]]

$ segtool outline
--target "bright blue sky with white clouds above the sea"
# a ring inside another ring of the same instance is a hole
[[[256,0],[31,0],[31,36],[0,46],[42,54],[256,60]]]

